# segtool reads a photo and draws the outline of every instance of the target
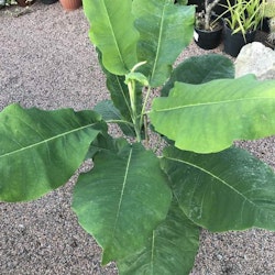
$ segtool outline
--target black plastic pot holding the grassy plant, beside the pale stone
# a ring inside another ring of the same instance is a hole
[[[248,32],[244,37],[242,33],[232,34],[232,30],[224,24],[224,53],[237,57],[241,48],[255,40],[256,31]]]

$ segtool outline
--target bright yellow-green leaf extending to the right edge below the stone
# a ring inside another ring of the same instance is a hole
[[[202,85],[176,82],[166,98],[153,101],[155,130],[182,150],[211,153],[234,140],[275,134],[275,80],[252,75]]]

